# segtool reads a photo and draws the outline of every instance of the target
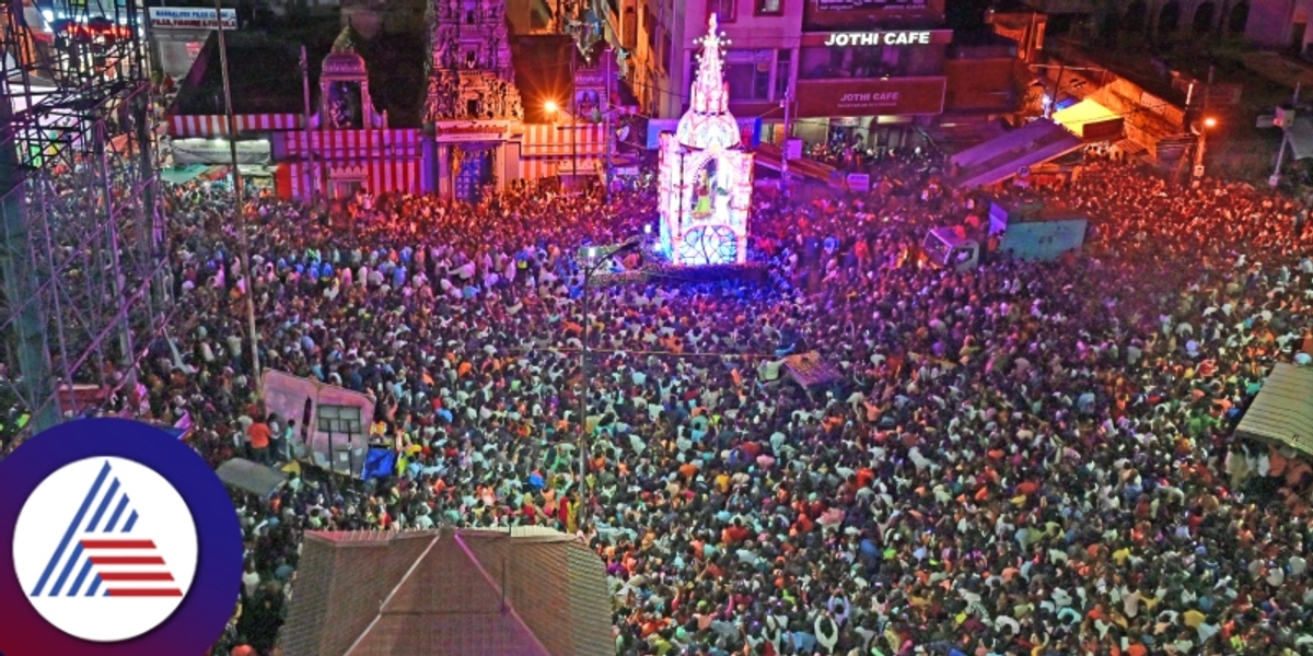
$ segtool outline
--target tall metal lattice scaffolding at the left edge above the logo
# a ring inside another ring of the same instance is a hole
[[[171,310],[144,9],[7,0],[0,21],[0,412],[30,428],[135,384]]]

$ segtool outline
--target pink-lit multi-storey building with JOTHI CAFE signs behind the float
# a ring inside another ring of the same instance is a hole
[[[989,115],[1014,105],[1015,47],[1002,56],[997,47],[951,47],[943,0],[614,1],[613,31],[653,117],[687,109],[697,37],[713,13],[729,38],[730,109],[759,122],[764,140],[779,143],[788,121],[807,143],[897,148],[945,112]],[[972,72],[982,56],[983,77]]]

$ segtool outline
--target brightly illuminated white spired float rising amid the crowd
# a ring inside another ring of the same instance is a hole
[[[729,110],[716,16],[702,37],[692,104],[660,135],[660,248],[678,265],[743,264],[752,154]]]

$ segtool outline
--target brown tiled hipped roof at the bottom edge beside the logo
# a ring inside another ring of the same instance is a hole
[[[596,554],[557,531],[310,533],[288,656],[603,656]]]

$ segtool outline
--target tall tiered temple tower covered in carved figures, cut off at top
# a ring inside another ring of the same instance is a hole
[[[424,121],[519,121],[504,0],[432,0]]]

